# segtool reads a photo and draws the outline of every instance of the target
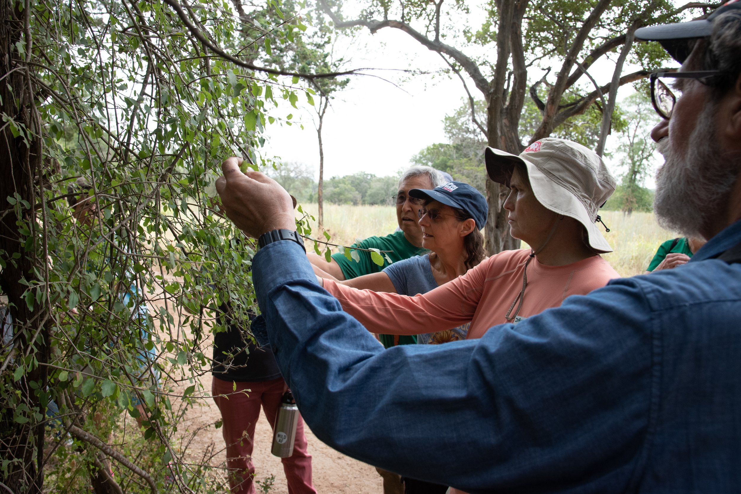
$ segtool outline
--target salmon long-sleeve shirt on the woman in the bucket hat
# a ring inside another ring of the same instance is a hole
[[[358,290],[331,280],[325,280],[324,286],[372,333],[422,334],[471,321],[467,339],[480,338],[488,328],[508,322],[505,314],[522,290],[529,255],[530,249],[500,252],[455,280],[414,297]],[[518,320],[559,307],[569,295],[588,294],[613,278],[619,274],[600,256],[561,266],[539,263],[535,257],[528,264],[528,286]]]

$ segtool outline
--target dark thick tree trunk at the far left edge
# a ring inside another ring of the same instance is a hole
[[[0,274],[0,287],[8,297],[13,334],[16,336],[15,361],[4,371],[6,375],[2,376],[10,389],[6,388],[0,404],[0,458],[11,462],[7,474],[0,472],[0,478],[14,493],[40,493],[44,482],[44,426],[36,423],[33,412],[44,416],[45,407],[41,406],[39,397],[32,392],[30,383],[34,382],[35,388],[44,390],[47,368],[37,365],[18,380],[7,375],[23,365],[21,362],[26,354],[29,356],[26,362],[32,362],[33,359],[39,363],[47,362],[49,342],[41,307],[36,304],[29,308],[23,298],[27,287],[20,282],[36,281],[33,263],[38,246],[34,242],[39,226],[34,221],[33,212],[33,205],[37,202],[34,176],[43,175],[41,140],[37,137],[41,129],[34,102],[34,85],[27,72],[26,61],[21,58],[16,45],[23,46],[26,53],[33,48],[31,39],[27,37],[30,35],[30,9],[17,8],[21,6],[20,2],[0,0],[0,112],[12,118],[17,125],[16,129],[5,125],[0,132],[0,176],[3,178],[0,180],[0,212],[4,212],[0,220],[0,249],[4,251],[1,254],[6,263]],[[13,130],[21,133],[14,136]],[[7,200],[9,196],[15,204]],[[21,234],[21,228],[31,231],[28,238]],[[24,423],[16,420],[21,413],[18,417],[14,415],[21,410],[20,405],[31,410],[21,412],[28,419]]]

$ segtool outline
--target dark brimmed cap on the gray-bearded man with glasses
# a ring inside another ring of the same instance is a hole
[[[706,38],[711,34],[713,19],[728,10],[741,10],[740,0],[730,0],[722,4],[708,18],[697,21],[663,24],[661,26],[641,27],[636,30],[636,39],[640,41],[659,41],[671,58],[683,64],[694,48],[697,38]]]

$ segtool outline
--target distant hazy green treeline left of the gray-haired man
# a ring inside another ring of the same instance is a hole
[[[318,184],[313,171],[301,163],[283,163],[268,175],[280,183],[299,202],[316,203]],[[376,177],[372,173],[356,173],[324,180],[325,203],[393,205],[399,175]]]

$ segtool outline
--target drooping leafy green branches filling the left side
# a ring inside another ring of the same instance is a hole
[[[268,6],[280,11],[277,1]],[[28,63],[39,126],[13,125],[16,138],[41,143],[43,159],[36,203],[19,191],[4,215],[15,218],[33,265],[18,282],[36,316],[14,320],[15,346],[0,352],[1,433],[6,441],[30,434],[54,405],[51,441],[59,447],[72,424],[104,434],[91,422],[96,410],[112,422],[127,414],[143,420],[151,443],[140,464],[159,471],[171,460],[182,488],[220,490],[174,447],[181,405],[199,401],[199,376],[210,369],[208,333],[221,329],[209,308],[230,302],[230,317],[246,319],[255,305],[253,243],[216,212],[213,182],[230,155],[253,169],[273,164],[259,151],[262,133],[290,122],[274,113],[277,101],[298,95],[275,75],[209,53],[166,3],[30,8],[30,37],[13,56]],[[270,52],[305,29],[298,17],[263,16],[245,34],[227,2],[191,3],[187,15],[229,53],[257,43]],[[3,268],[19,260],[0,254]],[[46,377],[31,379],[39,366]],[[4,460],[3,477],[24,461]]]

